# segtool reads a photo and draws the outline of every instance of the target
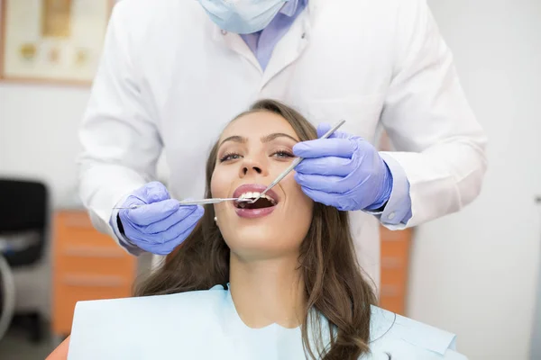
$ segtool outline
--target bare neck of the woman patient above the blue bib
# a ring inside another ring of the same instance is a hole
[[[229,274],[234,306],[248,327],[301,324],[306,299],[297,256],[247,261],[232,252]]]

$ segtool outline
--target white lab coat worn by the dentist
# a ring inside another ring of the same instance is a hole
[[[371,141],[382,124],[408,177],[413,216],[352,212],[361,265],[379,283],[378,220],[415,226],[472,202],[485,172],[485,135],[425,0],[309,0],[265,71],[234,33],[194,0],[115,6],[80,139],[80,193],[97,229],[155,178],[165,150],[170,193],[199,198],[205,160],[225,124],[260,98],[310,121],[347,120]],[[135,249],[130,249],[135,251]]]

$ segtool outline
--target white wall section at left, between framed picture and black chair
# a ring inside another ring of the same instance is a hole
[[[77,131],[88,88],[0,83],[0,175],[51,185],[55,205],[74,202]]]

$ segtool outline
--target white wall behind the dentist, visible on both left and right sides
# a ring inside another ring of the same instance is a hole
[[[541,2],[432,0],[490,136],[478,201],[417,230],[409,316],[459,335],[471,359],[527,359],[539,265]],[[37,175],[73,202],[88,89],[0,83],[0,175]]]

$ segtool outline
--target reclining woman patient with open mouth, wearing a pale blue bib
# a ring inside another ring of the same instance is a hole
[[[298,112],[255,103],[212,148],[206,197],[259,195],[315,138]],[[73,360],[465,358],[454,335],[373,306],[347,212],[313,202],[292,174],[254,204],[206,207],[136,294],[79,302],[69,344],[50,358],[68,347]]]

